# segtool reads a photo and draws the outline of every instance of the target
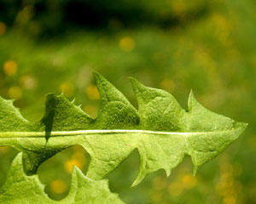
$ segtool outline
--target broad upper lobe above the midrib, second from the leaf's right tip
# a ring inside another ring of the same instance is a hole
[[[137,96],[141,128],[170,132],[183,129],[180,118],[185,115],[185,111],[172,94],[148,88],[134,78],[130,80]]]

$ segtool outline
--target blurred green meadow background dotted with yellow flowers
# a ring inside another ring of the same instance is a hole
[[[195,177],[189,156],[172,171],[130,188],[139,155],[108,175],[127,203],[256,203],[256,2],[254,0],[1,0],[0,94],[28,120],[44,115],[44,95],[63,92],[90,116],[99,105],[91,70],[137,106],[127,77],[172,93],[189,91],[209,110],[248,122],[245,133]],[[17,151],[0,148],[0,185]],[[55,200],[70,188],[73,165],[90,157],[73,146],[38,175]]]

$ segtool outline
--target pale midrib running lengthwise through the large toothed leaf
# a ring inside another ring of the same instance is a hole
[[[110,133],[146,133],[146,134],[160,134],[160,135],[198,135],[198,134],[211,134],[211,133],[226,133],[234,131],[234,129],[214,132],[191,132],[191,133],[177,133],[177,132],[161,132],[151,130],[138,130],[138,129],[103,129],[103,130],[76,130],[76,131],[52,131],[51,137],[59,136],[79,136],[86,134],[110,134]],[[2,132],[1,138],[41,138],[45,137],[45,132]]]

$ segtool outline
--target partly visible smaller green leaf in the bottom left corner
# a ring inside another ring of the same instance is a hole
[[[95,181],[84,176],[79,168],[73,168],[71,190],[66,198],[53,201],[44,193],[44,185],[40,183],[38,175],[27,176],[23,172],[22,153],[13,161],[5,184],[0,190],[0,203],[53,203],[53,204],[79,204],[79,203],[106,203],[121,204],[118,195],[108,190],[108,181]]]

